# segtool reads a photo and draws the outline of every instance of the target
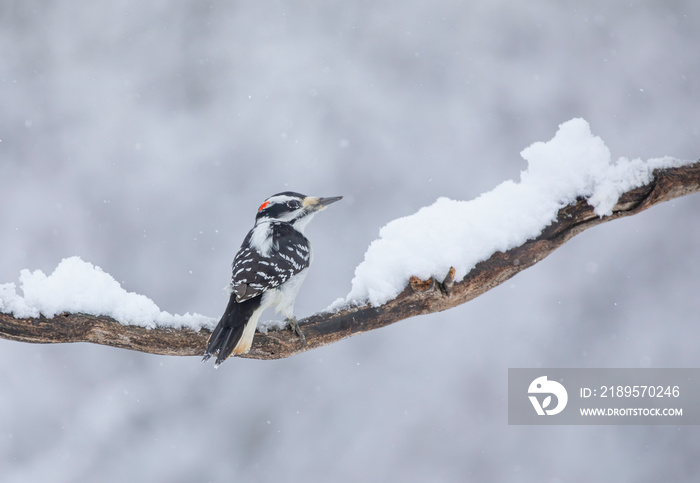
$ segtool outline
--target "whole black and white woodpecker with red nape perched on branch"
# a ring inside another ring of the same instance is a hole
[[[268,307],[281,312],[305,343],[294,317],[294,300],[311,263],[304,228],[316,213],[341,198],[285,191],[260,205],[255,226],[233,259],[228,306],[209,337],[202,361],[216,356],[218,366],[231,355],[248,352],[260,314]]]

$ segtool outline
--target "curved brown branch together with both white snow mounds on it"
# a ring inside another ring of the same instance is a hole
[[[416,315],[468,302],[534,265],[592,226],[700,191],[700,162],[612,161],[588,123],[562,124],[522,153],[528,168],[475,200],[439,199],[380,231],[352,288],[326,311],[299,321],[306,346],[287,330],[256,334],[244,357],[277,359]],[[171,315],[128,293],[78,257],[53,274],[23,270],[23,296],[0,284],[0,337],[93,342],[165,355],[201,355],[216,322]],[[88,315],[93,314],[93,315]]]

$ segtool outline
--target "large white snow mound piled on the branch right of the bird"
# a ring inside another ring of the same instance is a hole
[[[525,148],[520,182],[505,181],[471,201],[439,198],[417,213],[389,222],[355,269],[352,289],[329,308],[396,297],[415,275],[442,280],[450,267],[461,280],[496,251],[522,245],[579,197],[599,216],[610,215],[619,196],[652,180],[657,168],[686,164],[665,157],[613,162],[607,146],[583,119],[559,126],[553,139]]]

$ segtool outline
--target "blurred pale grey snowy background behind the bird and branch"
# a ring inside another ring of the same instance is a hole
[[[344,195],[308,230],[309,315],[382,225],[517,179],[570,118],[613,158],[700,157],[698,22],[691,0],[2,0],[0,283],[80,255],[218,317],[262,200]],[[700,428],[508,426],[506,380],[700,366],[698,210],[602,225],[469,304],[287,360],[0,340],[0,479],[696,481]]]

